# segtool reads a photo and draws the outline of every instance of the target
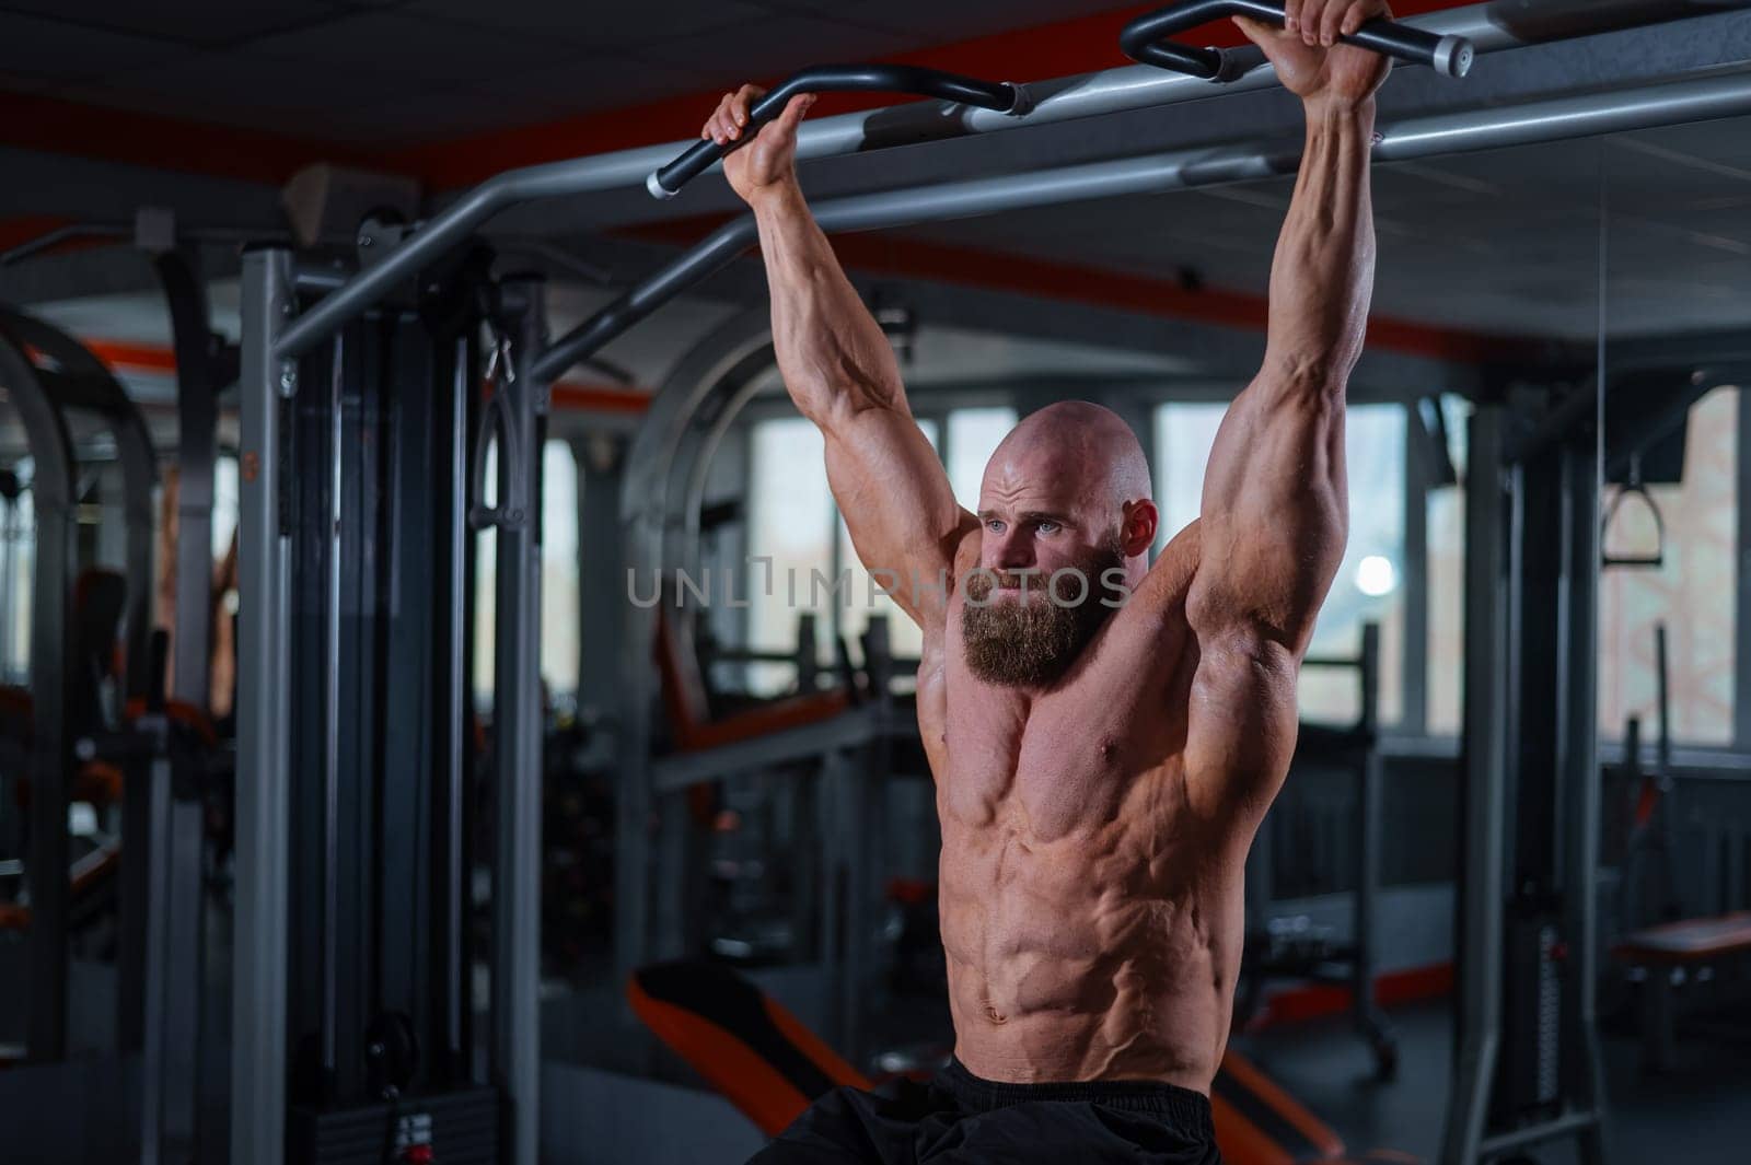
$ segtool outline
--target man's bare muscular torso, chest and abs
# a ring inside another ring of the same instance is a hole
[[[1028,696],[967,673],[961,603],[919,684],[956,1055],[988,1079],[1208,1092],[1252,829],[1199,820],[1187,798],[1184,623],[1133,603]]]

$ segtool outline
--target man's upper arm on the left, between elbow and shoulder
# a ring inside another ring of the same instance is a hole
[[[863,409],[835,423],[826,479],[872,579],[919,626],[940,621],[956,549],[979,520],[954,502],[918,422],[898,409]]]

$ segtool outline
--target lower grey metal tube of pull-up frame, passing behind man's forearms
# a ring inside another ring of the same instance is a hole
[[[1751,70],[1735,70],[1663,80],[1623,93],[1581,93],[1523,105],[1415,117],[1382,128],[1375,161],[1504,149],[1747,112],[1751,112]],[[1079,199],[1159,194],[1273,178],[1294,173],[1299,164],[1299,140],[1243,142],[860,194],[821,203],[814,208],[814,217],[825,231],[874,231]],[[755,243],[755,238],[753,215],[718,227],[702,243],[557,339],[541,353],[534,374],[557,380],[567,367],[594,355],[660,304],[728,266]]]

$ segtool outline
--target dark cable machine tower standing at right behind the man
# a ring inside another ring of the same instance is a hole
[[[1606,1160],[1597,432],[1539,439],[1494,401],[1471,420],[1459,1037],[1443,1165],[1558,1137],[1576,1137],[1588,1165]]]

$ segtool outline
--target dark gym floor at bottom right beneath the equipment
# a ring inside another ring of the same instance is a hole
[[[1236,1048],[1336,1128],[1352,1151],[1401,1149],[1439,1160],[1452,1078],[1452,1009],[1392,1013],[1399,1078],[1369,1079],[1366,1044],[1343,1020],[1320,1020],[1236,1039]],[[1739,1165],[1751,1160],[1751,1044],[1686,1029],[1679,1071],[1649,1076],[1630,1034],[1604,1036],[1611,1102],[1609,1165]],[[1539,1165],[1571,1165],[1572,1142],[1530,1149]]]

